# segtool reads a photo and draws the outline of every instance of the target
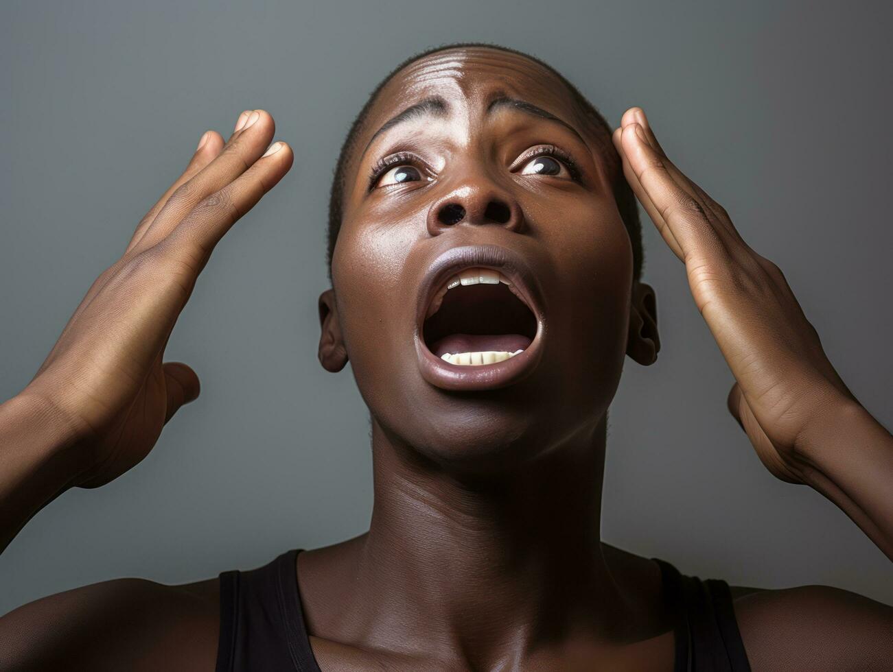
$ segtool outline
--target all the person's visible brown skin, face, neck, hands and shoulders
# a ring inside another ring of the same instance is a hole
[[[376,134],[432,96],[440,103],[424,115]],[[497,98],[564,123],[491,106]],[[68,487],[103,485],[142,460],[198,395],[195,373],[163,363],[163,347],[213,246],[290,167],[286,145],[261,158],[272,137],[265,112],[226,145],[209,132],[34,380],[0,406],[4,545]],[[570,154],[579,178],[525,172],[542,145]],[[389,181],[395,166],[370,188],[371,167],[396,151],[413,153],[399,164],[413,178]],[[366,534],[298,555],[323,670],[672,669],[657,566],[599,541],[605,411],[624,359],[647,365],[659,350],[655,293],[633,281],[608,184],[613,152],[685,263],[736,377],[730,411],[760,459],[893,553],[889,433],[831,367],[780,271],[673,166],[644,112],[630,108],[606,137],[537,63],[441,52],[398,73],[373,105],[346,172],[332,288],[320,297],[320,361],[332,371],[351,361],[372,416],[375,483]],[[455,203],[463,220],[445,224],[438,213]],[[423,278],[438,255],[469,245],[522,257],[538,285],[536,361],[498,385],[420,364]],[[116,347],[97,357],[97,340]],[[756,670],[882,669],[893,648],[893,609],[860,595],[733,594]],[[0,619],[0,651],[15,668],[210,670],[218,599],[216,578],[89,585]]]

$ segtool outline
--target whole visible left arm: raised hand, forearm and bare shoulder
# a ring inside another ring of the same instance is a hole
[[[225,145],[208,131],[29,385],[0,404],[0,551],[68,488],[138,464],[198,395],[164,348],[214,246],[291,167],[288,145],[267,150],[273,131],[263,111],[244,112]],[[213,669],[217,586],[127,578],[30,602],[0,618],[0,669]]]

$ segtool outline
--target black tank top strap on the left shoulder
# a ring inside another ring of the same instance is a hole
[[[321,672],[298,595],[295,560],[301,550],[260,568],[221,572],[216,672]]]

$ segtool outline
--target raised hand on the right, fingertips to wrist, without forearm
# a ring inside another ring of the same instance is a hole
[[[729,214],[663,153],[638,107],[613,143],[663,240],[685,263],[697,309],[737,383],[728,405],[776,477],[803,483],[808,430],[855,402],[779,268],[741,238]]]

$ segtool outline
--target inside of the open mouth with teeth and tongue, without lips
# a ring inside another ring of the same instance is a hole
[[[455,366],[497,364],[522,353],[537,319],[498,270],[463,269],[432,297],[422,324],[431,353]]]

